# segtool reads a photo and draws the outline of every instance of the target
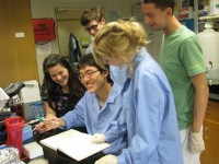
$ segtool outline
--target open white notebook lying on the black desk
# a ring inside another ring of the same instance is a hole
[[[76,161],[89,157],[108,147],[108,143],[93,143],[92,136],[73,129],[41,140],[41,143]]]

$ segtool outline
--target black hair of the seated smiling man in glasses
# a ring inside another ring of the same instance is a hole
[[[88,54],[85,55],[83,58],[81,58],[81,60],[79,61],[79,65],[78,65],[78,69],[83,69],[85,67],[95,67],[97,70],[100,70],[101,73],[105,72],[105,71],[108,71],[108,75],[107,75],[107,81],[110,83],[113,83],[113,80],[111,79],[111,75],[110,75],[110,67],[108,65],[104,65],[105,69],[101,68],[94,60],[92,54]]]

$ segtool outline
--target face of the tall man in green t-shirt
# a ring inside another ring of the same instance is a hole
[[[166,16],[170,14],[170,8],[162,11],[155,8],[153,3],[143,3],[142,14],[146,25],[149,25],[154,31],[164,30],[166,26]]]

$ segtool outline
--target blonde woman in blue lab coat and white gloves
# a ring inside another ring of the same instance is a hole
[[[110,130],[94,134],[96,142],[112,142],[127,132],[128,148],[118,156],[106,155],[95,164],[182,164],[173,94],[165,74],[147,52],[140,23],[117,21],[101,28],[92,45],[99,65],[123,69],[119,83],[123,115]]]

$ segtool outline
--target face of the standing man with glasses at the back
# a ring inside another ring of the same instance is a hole
[[[101,22],[96,22],[95,20],[91,21],[87,26],[85,31],[91,35],[95,36],[95,34],[105,25],[105,20],[102,19]]]

